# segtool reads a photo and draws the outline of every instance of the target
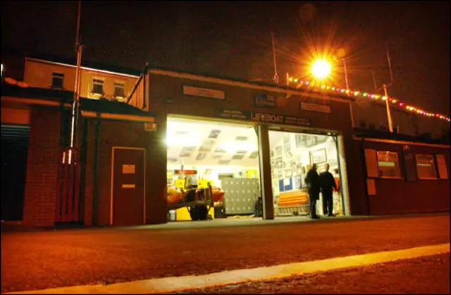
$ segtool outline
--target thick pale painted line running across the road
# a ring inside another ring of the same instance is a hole
[[[220,287],[249,281],[265,281],[303,275],[311,272],[323,272],[343,268],[356,268],[376,263],[388,263],[402,259],[418,258],[450,252],[450,244],[422,246],[397,251],[384,251],[364,255],[346,256],[288,263],[262,268],[228,270],[214,272],[209,275],[189,275],[184,277],[162,277],[159,279],[139,280],[117,284],[94,284],[75,287],[11,292],[5,294],[161,294],[174,291],[186,291],[206,287]]]

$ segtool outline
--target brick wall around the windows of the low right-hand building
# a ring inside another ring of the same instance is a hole
[[[352,214],[407,214],[450,212],[450,177],[447,180],[413,180],[405,176],[405,165],[402,156],[403,144],[385,142],[354,141],[354,169],[348,171],[350,187],[352,187]],[[376,195],[366,192],[366,163],[364,149],[377,151],[394,151],[398,153],[402,179],[373,178]],[[445,156],[447,171],[450,173],[450,149],[433,146],[409,145],[413,153]],[[358,155],[358,156],[357,156]],[[351,184],[352,183],[352,184]]]

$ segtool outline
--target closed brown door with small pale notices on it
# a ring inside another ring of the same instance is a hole
[[[144,224],[144,149],[113,148],[112,225]]]

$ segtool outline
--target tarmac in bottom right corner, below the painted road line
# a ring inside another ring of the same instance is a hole
[[[178,292],[173,294],[183,294]],[[450,294],[450,255],[194,289],[189,294]]]

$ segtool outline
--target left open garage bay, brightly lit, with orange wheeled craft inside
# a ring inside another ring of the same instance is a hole
[[[170,220],[197,220],[192,209],[206,212],[184,202],[202,199],[199,191],[208,184],[214,206],[207,206],[209,216],[199,219],[261,218],[258,141],[252,125],[170,117],[166,144]]]

